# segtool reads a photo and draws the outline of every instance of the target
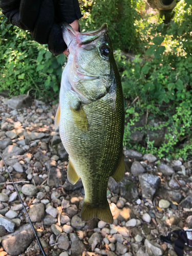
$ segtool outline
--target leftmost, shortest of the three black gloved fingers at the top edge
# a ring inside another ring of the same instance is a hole
[[[36,20],[39,16],[42,0],[22,0],[19,8],[20,23],[28,30],[34,30]]]

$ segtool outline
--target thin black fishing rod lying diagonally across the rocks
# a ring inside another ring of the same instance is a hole
[[[22,201],[22,198],[20,197],[20,194],[19,194],[19,192],[18,192],[18,190],[17,190],[17,187],[16,187],[16,185],[15,185],[15,183],[14,183],[14,181],[13,181],[13,178],[12,178],[10,172],[9,172],[9,169],[8,169],[7,164],[6,164],[6,162],[5,162],[4,156],[3,156],[3,154],[2,154],[1,152],[0,152],[0,155],[1,155],[2,159],[3,159],[3,161],[4,161],[4,164],[5,164],[5,166],[6,166],[6,169],[7,169],[7,172],[8,172],[8,174],[9,174],[9,177],[10,177],[11,181],[13,182],[13,186],[14,186],[14,188],[15,188],[15,191],[16,191],[17,195],[18,195],[18,198],[19,198],[20,202],[21,202],[22,205],[23,205],[24,211],[25,211],[26,216],[27,216],[27,218],[28,218],[28,220],[29,220],[29,223],[30,223],[30,225],[31,225],[31,227],[32,227],[32,229],[33,229],[33,232],[34,232],[34,234],[35,234],[35,238],[36,238],[37,243],[38,243],[38,245],[39,245],[39,247],[40,247],[40,249],[41,249],[41,252],[42,252],[43,256],[47,256],[47,254],[46,254],[46,252],[45,252],[45,250],[44,250],[44,247],[42,247],[42,244],[41,244],[39,238],[37,237],[37,233],[36,233],[35,228],[34,228],[32,222],[31,222],[31,219],[30,219],[30,217],[29,217],[29,215],[28,215],[28,212],[27,212],[27,210],[26,210],[26,207],[25,207],[25,205],[24,205],[24,203],[23,203],[23,201]]]

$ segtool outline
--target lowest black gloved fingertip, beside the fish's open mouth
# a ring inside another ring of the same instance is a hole
[[[61,27],[54,23],[49,34],[48,48],[54,55],[59,55],[67,49],[67,45],[62,38]]]

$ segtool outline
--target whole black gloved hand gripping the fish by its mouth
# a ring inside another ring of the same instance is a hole
[[[1,8],[11,24],[30,30],[33,39],[48,44],[55,55],[67,48],[59,23],[82,16],[78,0],[1,0]]]

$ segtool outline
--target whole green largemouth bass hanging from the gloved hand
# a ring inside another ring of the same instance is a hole
[[[80,217],[112,224],[108,181],[120,182],[123,159],[124,107],[121,79],[108,28],[80,33],[64,23],[68,61],[63,70],[55,129],[69,154],[67,178],[84,187]]]

